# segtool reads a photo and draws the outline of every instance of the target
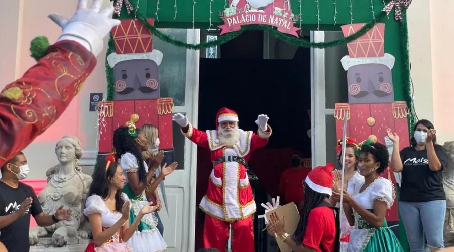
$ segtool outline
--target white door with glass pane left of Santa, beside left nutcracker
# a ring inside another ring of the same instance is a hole
[[[197,44],[200,30],[160,29],[171,37]],[[174,113],[184,113],[197,126],[199,51],[187,50],[153,38],[153,49],[160,50],[163,60],[159,66],[161,96],[174,99]],[[165,178],[168,214],[159,212],[164,225],[166,251],[192,251],[195,237],[195,183],[197,147],[185,141],[180,127],[173,123],[173,137],[177,170]],[[160,192],[163,203],[162,192]]]

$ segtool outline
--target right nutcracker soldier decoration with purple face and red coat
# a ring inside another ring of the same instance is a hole
[[[344,36],[357,32],[364,24],[342,26]],[[392,72],[394,57],[384,53],[384,28],[376,24],[366,34],[347,44],[349,55],[341,59],[347,71],[349,103],[336,103],[337,139],[342,139],[343,121],[347,117],[347,136],[358,140],[369,136],[386,143],[386,130],[390,128],[400,139],[400,146],[408,146],[407,104],[394,101]],[[389,168],[388,168],[389,169]],[[392,173],[383,173],[395,184]],[[388,210],[386,219],[398,222],[398,206]]]

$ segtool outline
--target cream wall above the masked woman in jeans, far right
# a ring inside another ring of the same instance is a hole
[[[415,108],[434,123],[440,144],[454,140],[453,12],[452,0],[413,1],[408,11]]]

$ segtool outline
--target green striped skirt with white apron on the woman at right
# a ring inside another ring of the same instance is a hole
[[[401,244],[388,227],[386,219],[380,228],[372,227],[360,215],[355,213],[356,229],[350,231],[348,251],[353,252],[403,252]]]

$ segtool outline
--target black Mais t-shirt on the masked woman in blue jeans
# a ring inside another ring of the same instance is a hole
[[[401,150],[403,170],[400,201],[427,202],[446,199],[442,174],[448,158],[439,145],[435,145],[435,153],[442,166],[439,171],[430,170],[427,150],[418,151],[413,146]]]

